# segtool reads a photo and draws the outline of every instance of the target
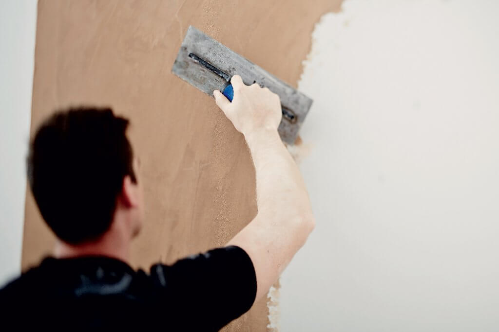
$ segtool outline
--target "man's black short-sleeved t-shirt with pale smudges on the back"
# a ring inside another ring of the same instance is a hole
[[[49,257],[0,290],[0,322],[36,331],[217,331],[255,295],[253,264],[237,246],[156,264],[149,274],[104,256]]]

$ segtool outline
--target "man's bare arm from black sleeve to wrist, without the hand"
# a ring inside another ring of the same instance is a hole
[[[296,163],[276,130],[246,135],[256,173],[258,213],[229,244],[250,255],[263,296],[314,227],[308,194]]]

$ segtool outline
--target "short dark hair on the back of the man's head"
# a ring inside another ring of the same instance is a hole
[[[27,175],[41,216],[70,244],[99,238],[111,225],[123,179],[133,172],[128,119],[109,108],[57,111],[36,131]]]

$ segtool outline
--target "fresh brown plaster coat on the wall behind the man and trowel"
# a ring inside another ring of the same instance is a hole
[[[57,108],[111,106],[131,119],[146,224],[132,265],[224,245],[256,214],[245,144],[210,97],[171,74],[192,24],[295,85],[313,24],[340,0],[40,0],[31,134]],[[77,213],[77,212],[75,212]],[[54,238],[27,190],[22,267]],[[265,299],[227,331],[265,331]]]

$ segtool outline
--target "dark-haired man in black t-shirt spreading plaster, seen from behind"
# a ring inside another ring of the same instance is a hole
[[[226,247],[134,271],[131,240],[143,223],[139,162],[128,120],[73,109],[46,120],[31,142],[28,180],[58,238],[54,256],[0,291],[3,322],[103,330],[216,331],[247,312],[277,280],[314,227],[296,164],[277,133],[279,97],[231,81],[217,105],[246,138],[256,171],[257,216]]]

